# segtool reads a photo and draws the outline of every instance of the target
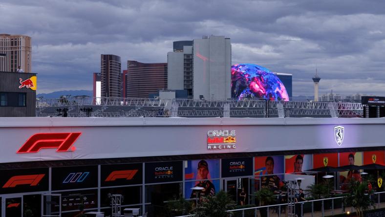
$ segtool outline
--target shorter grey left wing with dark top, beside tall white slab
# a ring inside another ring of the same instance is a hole
[[[192,41],[173,42],[174,52],[167,53],[169,89],[185,89],[192,98]]]

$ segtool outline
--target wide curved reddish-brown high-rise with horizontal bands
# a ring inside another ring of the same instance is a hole
[[[148,98],[149,94],[167,89],[167,63],[127,61],[126,97]]]

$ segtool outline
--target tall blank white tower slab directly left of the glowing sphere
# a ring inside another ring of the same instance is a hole
[[[231,98],[230,38],[194,39],[193,55],[193,98]]]

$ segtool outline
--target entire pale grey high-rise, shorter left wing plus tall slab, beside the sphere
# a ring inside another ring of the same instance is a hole
[[[194,39],[192,46],[187,42],[168,53],[168,88],[186,89],[194,99],[231,98],[230,39],[212,35]]]

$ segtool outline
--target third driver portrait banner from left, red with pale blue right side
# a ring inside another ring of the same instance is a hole
[[[312,169],[311,154],[285,155],[285,173],[305,174],[303,171]]]

